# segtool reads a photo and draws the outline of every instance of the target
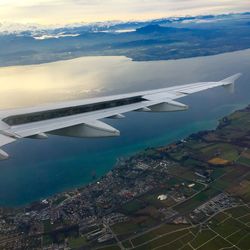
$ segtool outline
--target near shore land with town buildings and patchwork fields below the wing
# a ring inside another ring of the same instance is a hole
[[[250,106],[100,179],[0,209],[1,249],[249,249]]]

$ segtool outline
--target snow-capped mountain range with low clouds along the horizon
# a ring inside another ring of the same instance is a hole
[[[249,13],[240,13],[240,15]],[[50,39],[67,36],[78,36],[86,32],[110,32],[123,33],[132,32],[138,28],[147,25],[174,25],[185,23],[209,23],[226,20],[239,14],[221,14],[221,15],[204,15],[204,16],[184,16],[168,17],[145,21],[107,21],[95,23],[73,23],[65,26],[61,25],[38,25],[38,24],[20,24],[0,22],[0,35],[14,34],[17,36],[31,36],[35,39]]]

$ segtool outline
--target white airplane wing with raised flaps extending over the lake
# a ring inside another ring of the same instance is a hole
[[[44,139],[48,134],[73,137],[118,136],[120,132],[100,121],[120,119],[130,111],[183,111],[188,106],[178,98],[223,86],[230,92],[241,76],[235,74],[218,82],[199,82],[174,87],[134,92],[44,105],[40,107],[0,111],[0,147],[20,138]],[[0,149],[0,160],[8,154]]]

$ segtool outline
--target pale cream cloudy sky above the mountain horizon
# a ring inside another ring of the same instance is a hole
[[[244,11],[249,0],[0,0],[0,22],[42,25]]]

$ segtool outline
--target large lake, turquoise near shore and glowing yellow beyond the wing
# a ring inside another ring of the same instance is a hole
[[[217,88],[179,99],[190,106],[186,112],[132,112],[105,120],[121,131],[117,138],[50,136],[5,146],[11,158],[0,162],[0,205],[24,205],[82,186],[93,171],[100,177],[112,169],[118,157],[214,128],[220,117],[250,103],[250,50],[169,61],[83,57],[0,68],[1,109],[221,80],[238,72],[243,76],[233,95]]]

